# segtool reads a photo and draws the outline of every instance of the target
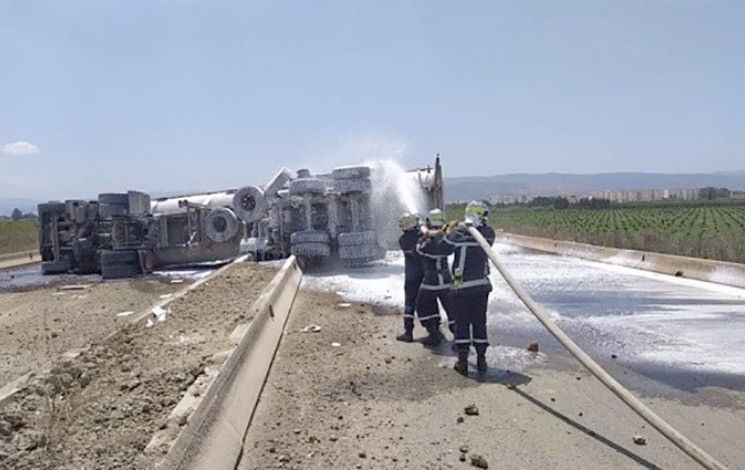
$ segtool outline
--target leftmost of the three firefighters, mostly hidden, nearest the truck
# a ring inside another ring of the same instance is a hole
[[[416,298],[424,277],[422,255],[416,251],[421,233],[419,231],[421,220],[416,214],[406,213],[398,220],[398,226],[403,231],[398,239],[398,245],[404,252],[404,332],[396,336],[396,339],[411,343],[414,341]],[[424,321],[422,326],[427,327]]]

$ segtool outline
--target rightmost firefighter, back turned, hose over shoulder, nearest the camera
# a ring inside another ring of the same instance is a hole
[[[489,261],[484,250],[468,232],[468,226],[476,229],[491,245],[494,243],[494,229],[488,225],[489,209],[481,201],[471,201],[466,206],[464,221],[442,240],[455,251],[453,262],[453,288],[451,290],[452,310],[455,313],[455,347],[458,362],[455,370],[468,375],[468,353],[470,346],[476,349],[476,369],[487,369],[486,348],[486,310],[489,292]],[[444,250],[441,250],[444,251]]]

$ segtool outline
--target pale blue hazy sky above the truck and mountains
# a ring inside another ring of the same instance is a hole
[[[0,197],[745,169],[745,2],[0,0]]]

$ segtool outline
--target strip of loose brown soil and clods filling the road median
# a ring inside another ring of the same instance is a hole
[[[169,413],[205,367],[219,366],[230,333],[251,320],[253,302],[275,274],[232,266],[171,303],[164,321],[89,337],[93,344],[78,357],[32,377],[0,409],[0,468],[151,468],[158,455],[143,454],[151,437],[172,425]],[[135,302],[131,292],[124,297]]]

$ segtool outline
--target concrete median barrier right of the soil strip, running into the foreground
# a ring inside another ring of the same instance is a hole
[[[246,334],[159,468],[235,468],[301,278],[291,256],[254,303]]]

